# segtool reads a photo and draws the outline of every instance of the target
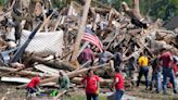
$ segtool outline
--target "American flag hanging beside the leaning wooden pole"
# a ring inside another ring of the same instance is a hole
[[[103,49],[103,45],[98,38],[98,36],[88,27],[85,28],[85,34],[82,35],[82,40],[89,41],[90,43],[97,46],[100,51]]]

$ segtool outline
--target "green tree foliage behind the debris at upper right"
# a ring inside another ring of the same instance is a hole
[[[120,3],[126,1],[129,7],[132,0],[100,0],[110,3],[113,8],[120,11]],[[111,2],[109,2],[111,1]],[[164,21],[178,15],[178,0],[140,0],[140,12],[143,15],[151,15],[153,20],[163,18]]]

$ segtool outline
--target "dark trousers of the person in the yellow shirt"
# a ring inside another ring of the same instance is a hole
[[[137,82],[138,87],[139,87],[142,75],[144,75],[145,77],[145,87],[148,88],[149,87],[149,67],[148,66],[140,66],[138,82]]]

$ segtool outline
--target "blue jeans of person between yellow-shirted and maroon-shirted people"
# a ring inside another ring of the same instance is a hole
[[[160,89],[161,89],[161,72],[153,72],[152,73],[151,89],[152,89],[152,87],[154,87],[154,80],[156,84],[156,91],[160,92]]]

